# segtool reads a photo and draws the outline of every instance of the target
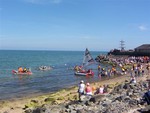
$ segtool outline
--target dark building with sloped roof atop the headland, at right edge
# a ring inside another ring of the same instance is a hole
[[[143,44],[143,45],[135,48],[135,52],[150,54],[150,44]]]

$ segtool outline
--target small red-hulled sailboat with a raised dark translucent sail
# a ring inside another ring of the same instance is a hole
[[[91,69],[89,69],[88,71],[85,71],[84,68],[94,62],[95,61],[92,58],[92,55],[90,54],[89,50],[86,48],[84,57],[83,57],[82,66],[76,66],[74,74],[80,75],[80,76],[93,76],[94,72]]]

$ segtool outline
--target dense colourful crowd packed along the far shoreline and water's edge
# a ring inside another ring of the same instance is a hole
[[[150,57],[109,57],[112,66],[102,68],[98,65],[98,75],[108,76],[126,75],[143,76],[150,74]]]

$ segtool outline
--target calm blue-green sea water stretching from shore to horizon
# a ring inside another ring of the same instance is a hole
[[[82,64],[83,54],[84,51],[0,50],[0,100],[50,93],[75,86],[80,80],[98,81],[96,64],[90,67],[95,71],[94,77],[74,75],[72,69]],[[106,52],[91,51],[94,59],[99,54]],[[37,70],[41,65],[52,66],[53,70]],[[11,71],[19,66],[30,68],[33,75],[13,75]]]

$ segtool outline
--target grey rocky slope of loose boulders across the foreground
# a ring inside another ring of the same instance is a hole
[[[44,104],[35,109],[27,108],[25,113],[145,113],[147,104],[142,97],[149,88],[149,81],[140,81],[136,84],[128,80],[116,85],[108,94],[98,94],[92,97],[83,96],[77,100],[63,104]],[[112,88],[109,86],[109,88]]]

